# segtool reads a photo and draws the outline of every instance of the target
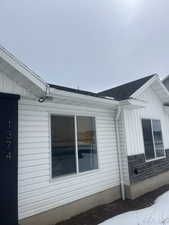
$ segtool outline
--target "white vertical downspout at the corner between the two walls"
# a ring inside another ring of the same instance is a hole
[[[121,195],[122,195],[122,200],[125,200],[126,196],[125,196],[122,156],[121,156],[121,150],[120,150],[120,134],[119,134],[119,124],[118,124],[120,114],[121,114],[121,107],[118,106],[117,114],[116,114],[116,117],[115,117],[115,129],[116,129],[116,139],[117,139],[117,154],[118,154],[118,162],[119,162]]]

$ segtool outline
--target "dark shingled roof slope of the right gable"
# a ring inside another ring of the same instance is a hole
[[[98,93],[99,96],[113,97],[115,100],[121,101],[129,99],[139,88],[141,88],[147,81],[149,81],[155,74],[147,76],[105,91]]]

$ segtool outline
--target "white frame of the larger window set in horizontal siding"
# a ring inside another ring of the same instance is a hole
[[[71,116],[74,117],[74,126],[75,126],[75,157],[76,157],[76,172],[72,173],[72,174],[65,174],[65,175],[61,175],[61,176],[56,176],[56,177],[52,177],[52,136],[51,136],[51,116]],[[96,148],[97,148],[97,165],[98,167],[96,169],[93,170],[88,170],[88,171],[84,171],[84,172],[80,172],[79,171],[79,163],[78,163],[78,140],[77,140],[77,117],[79,116],[83,116],[83,117],[92,117],[94,118],[95,121],[95,132],[96,132]],[[97,138],[97,118],[95,115],[93,114],[73,114],[73,113],[61,113],[61,112],[51,112],[48,115],[49,118],[49,149],[50,149],[50,182],[54,182],[54,181],[59,181],[60,179],[64,179],[64,178],[72,178],[75,176],[83,176],[83,175],[87,175],[87,174],[93,174],[98,172],[98,170],[100,170],[100,160],[99,160],[99,151],[98,151],[98,138]]]

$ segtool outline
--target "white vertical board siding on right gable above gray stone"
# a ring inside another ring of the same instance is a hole
[[[151,87],[139,97],[147,102],[145,108],[125,110],[125,131],[128,155],[144,153],[144,141],[141,119],[158,119],[161,121],[164,148],[169,148],[169,116],[164,111],[163,104]]]

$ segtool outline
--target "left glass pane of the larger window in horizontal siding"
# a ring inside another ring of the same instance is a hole
[[[52,116],[52,176],[76,172],[74,117]]]

